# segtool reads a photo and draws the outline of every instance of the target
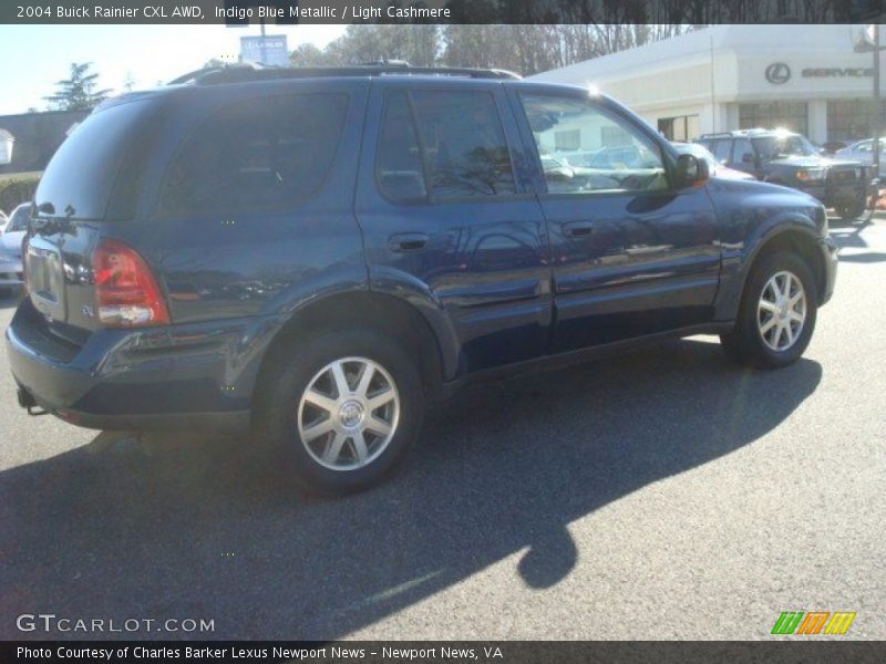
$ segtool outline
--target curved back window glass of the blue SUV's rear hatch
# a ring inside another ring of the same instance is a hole
[[[34,194],[37,204],[44,210],[44,204],[51,205],[55,211],[48,214],[60,217],[103,218],[124,159],[138,158],[133,144],[153,106],[150,100],[126,102],[86,117],[47,166]]]

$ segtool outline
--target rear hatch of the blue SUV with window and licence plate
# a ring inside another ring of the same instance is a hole
[[[52,157],[34,194],[22,257],[29,297],[49,330],[71,342],[101,326],[93,251],[135,215],[156,106],[136,98],[96,110]]]

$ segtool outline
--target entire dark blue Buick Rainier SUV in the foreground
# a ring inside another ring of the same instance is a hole
[[[567,129],[641,158],[552,193]],[[609,97],[490,70],[198,73],[101,104],[34,203],[6,333],[23,407],[251,429],[331,494],[480,376],[699,333],[789,365],[836,274],[811,196],[708,180]]]

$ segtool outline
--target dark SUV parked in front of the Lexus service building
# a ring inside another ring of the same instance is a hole
[[[730,168],[814,196],[845,220],[857,219],[877,189],[865,164],[824,157],[802,134],[742,129],[707,134],[696,143]]]

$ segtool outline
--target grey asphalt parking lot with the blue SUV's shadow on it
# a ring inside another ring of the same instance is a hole
[[[29,417],[2,355],[0,637],[54,613],[218,639],[767,639],[823,610],[886,639],[886,220],[832,232],[836,294],[796,365],[693,338],[475,385],[393,481],[341,500],[240,440]]]

